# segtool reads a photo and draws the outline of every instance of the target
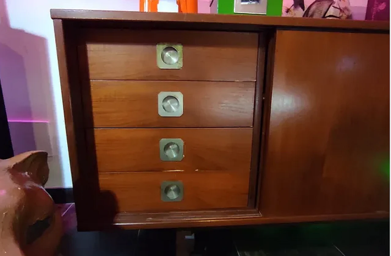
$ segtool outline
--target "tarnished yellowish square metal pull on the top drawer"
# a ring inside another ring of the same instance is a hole
[[[182,44],[157,44],[156,63],[160,69],[181,69],[183,66]]]

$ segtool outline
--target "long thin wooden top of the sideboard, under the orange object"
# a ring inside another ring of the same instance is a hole
[[[314,18],[291,18],[260,15],[194,14],[168,12],[133,11],[90,11],[90,10],[50,10],[52,19],[60,20],[106,20],[106,21],[149,21],[174,23],[218,23],[230,25],[252,25],[255,27],[298,27],[336,28],[350,30],[386,30],[389,21],[336,20]]]

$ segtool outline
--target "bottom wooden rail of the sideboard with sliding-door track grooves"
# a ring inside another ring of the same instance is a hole
[[[256,210],[185,213],[120,213],[112,226],[100,222],[84,222],[78,229],[92,231],[98,229],[147,229],[147,228],[197,228],[216,226],[240,226],[271,223],[296,223],[333,220],[389,219],[389,213],[363,213],[342,215],[314,215],[294,217],[262,217]]]

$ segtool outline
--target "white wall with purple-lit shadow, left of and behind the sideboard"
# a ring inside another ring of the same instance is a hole
[[[0,78],[11,119],[46,120],[46,187],[72,187],[50,9],[138,11],[139,0],[0,0]]]

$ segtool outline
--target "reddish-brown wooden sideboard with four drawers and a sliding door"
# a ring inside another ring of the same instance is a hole
[[[51,15],[79,230],[389,217],[389,22]]]

